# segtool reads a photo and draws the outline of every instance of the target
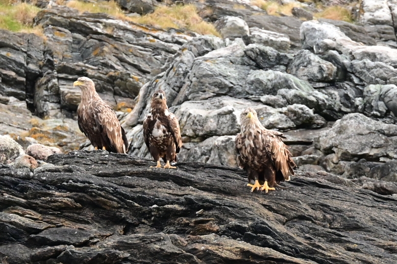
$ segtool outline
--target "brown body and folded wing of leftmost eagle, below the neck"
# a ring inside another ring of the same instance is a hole
[[[90,107],[77,111],[78,127],[99,148],[114,153],[126,153],[128,140],[124,129],[112,110],[103,101],[95,100]]]

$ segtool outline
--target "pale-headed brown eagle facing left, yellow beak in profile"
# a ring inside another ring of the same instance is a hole
[[[77,107],[77,123],[95,149],[126,153],[128,140],[116,113],[103,102],[95,90],[94,82],[80,77],[73,83],[81,89],[81,102]]]

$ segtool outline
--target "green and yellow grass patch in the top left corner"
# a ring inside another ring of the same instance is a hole
[[[29,3],[0,0],[0,28],[14,32],[29,30],[39,11],[40,8]]]

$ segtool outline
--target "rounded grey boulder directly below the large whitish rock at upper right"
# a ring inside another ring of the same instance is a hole
[[[336,78],[336,67],[309,50],[298,51],[288,66],[288,72],[302,80],[312,82],[332,82]]]

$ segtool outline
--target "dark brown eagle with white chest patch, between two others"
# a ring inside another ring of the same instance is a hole
[[[167,164],[165,169],[176,169],[170,161],[176,161],[176,154],[182,147],[178,119],[170,113],[163,90],[157,90],[151,97],[150,113],[143,123],[146,146],[149,149],[156,168],[161,168],[160,157]]]

